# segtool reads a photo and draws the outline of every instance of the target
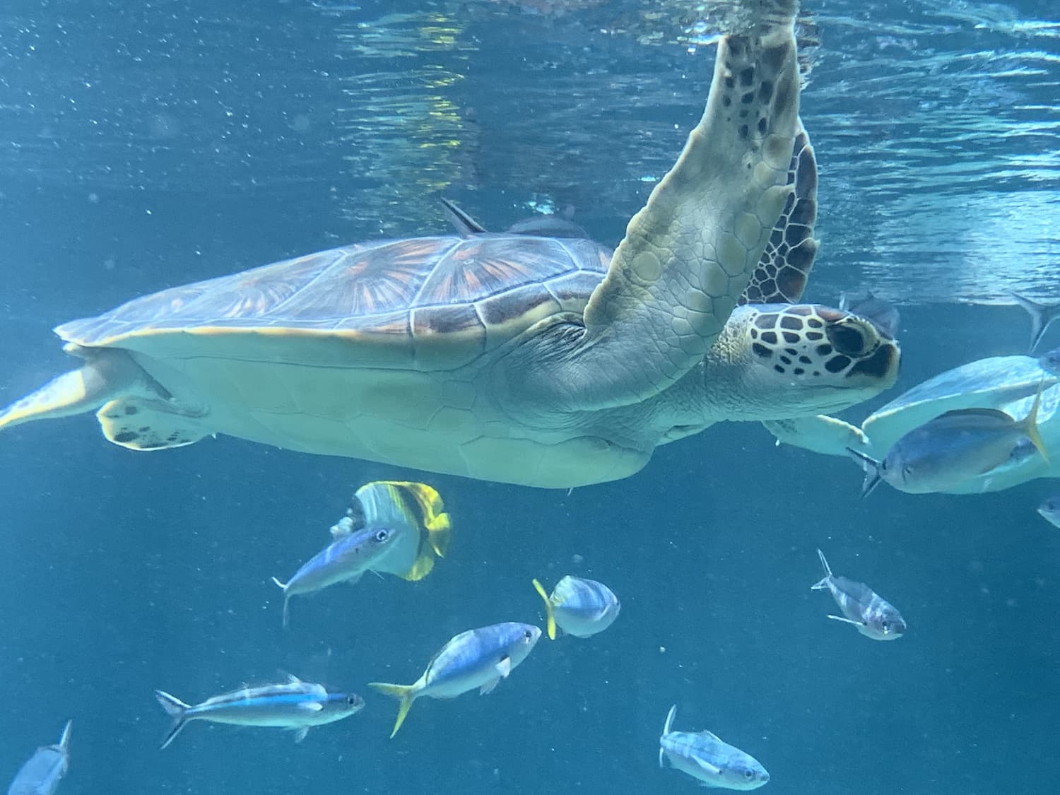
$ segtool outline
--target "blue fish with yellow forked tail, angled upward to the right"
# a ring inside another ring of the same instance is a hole
[[[401,701],[390,737],[398,734],[412,702],[421,696],[453,699],[475,688],[482,695],[489,693],[527,658],[540,637],[538,628],[514,621],[469,630],[450,638],[412,685],[368,683]]]

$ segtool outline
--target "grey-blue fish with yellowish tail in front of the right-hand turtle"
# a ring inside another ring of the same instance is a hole
[[[947,411],[895,442],[882,461],[848,447],[847,453],[865,467],[862,496],[871,493],[881,480],[908,494],[946,491],[1007,463],[1027,440],[1048,461],[1038,432],[1041,403],[1040,386],[1022,420],[993,408]]]

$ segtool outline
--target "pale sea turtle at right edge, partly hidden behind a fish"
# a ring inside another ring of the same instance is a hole
[[[1022,420],[1042,388],[1038,430],[1046,449],[1057,450],[1046,461],[1026,440],[1008,461],[960,487],[953,494],[977,494],[1008,489],[1040,477],[1060,477],[1060,349],[1040,358],[991,356],[947,370],[918,384],[873,412],[860,428],[834,417],[802,417],[765,423],[779,442],[834,456],[862,453],[877,460],[907,432],[947,411],[994,408]]]

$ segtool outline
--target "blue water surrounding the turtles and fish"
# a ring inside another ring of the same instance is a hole
[[[701,112],[712,50],[690,40],[692,6],[580,4],[6,3],[0,404],[68,366],[58,322],[442,230],[439,195],[494,228],[570,207],[616,242]],[[903,312],[901,381],[855,420],[1022,352],[1026,319],[989,305],[1005,289],[1060,298],[1060,16],[935,6],[811,8],[824,249],[808,297],[871,288]],[[734,424],[566,494],[224,437],[132,454],[91,417],[5,432],[0,474],[0,782],[73,718],[65,795],[693,792],[656,763],[673,703],[678,728],[754,754],[767,793],[1048,793],[1060,777],[1046,481],[862,501],[849,462]],[[420,583],[295,600],[284,632],[269,577],[378,478],[441,492],[450,554]],[[906,637],[828,621],[816,547],[898,605]],[[489,696],[418,702],[387,739],[395,703],[367,682],[411,683],[462,630],[543,621],[530,580],[564,573],[620,596],[613,628],[542,640]],[[198,701],[279,669],[368,706],[300,745],[194,724],[157,749],[155,688]]]

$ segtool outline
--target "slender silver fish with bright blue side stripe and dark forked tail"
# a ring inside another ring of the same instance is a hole
[[[364,699],[356,693],[332,693],[323,685],[289,674],[283,684],[233,690],[194,706],[161,690],[155,691],[155,697],[173,718],[163,748],[189,721],[288,729],[295,732],[295,741],[301,742],[312,726],[341,721],[365,707]]]

